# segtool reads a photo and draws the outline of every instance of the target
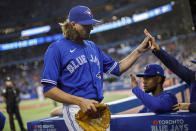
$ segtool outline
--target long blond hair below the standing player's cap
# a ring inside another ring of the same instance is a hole
[[[71,22],[69,22],[69,20],[66,20],[63,23],[59,24],[61,26],[65,38],[77,40],[80,37],[79,33],[72,27]]]

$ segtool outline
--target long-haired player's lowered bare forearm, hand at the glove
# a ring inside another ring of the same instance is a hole
[[[70,95],[66,92],[61,91],[57,87],[48,90],[44,93],[44,95],[50,99],[53,99],[61,103],[78,105],[80,106],[83,112],[87,112],[89,110],[92,110],[94,112],[97,111],[97,109],[94,106],[94,103],[98,103],[97,101]]]

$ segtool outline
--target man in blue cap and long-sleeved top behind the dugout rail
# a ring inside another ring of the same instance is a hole
[[[143,78],[144,91],[140,89],[135,76],[131,75],[132,92],[144,104],[139,113],[165,113],[172,111],[177,104],[175,95],[163,91],[163,83],[165,80],[164,70],[158,64],[148,64],[144,68],[144,72],[137,74]],[[152,93],[152,95],[148,94]]]

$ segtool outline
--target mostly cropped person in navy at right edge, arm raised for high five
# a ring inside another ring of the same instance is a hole
[[[188,85],[190,85],[190,102],[196,103],[196,71],[192,71],[187,67],[180,64],[173,56],[168,54],[166,51],[161,49],[159,45],[156,43],[155,38],[151,36],[151,34],[145,30],[144,33],[146,36],[151,38],[151,49],[153,54],[163,62],[163,64],[168,67],[172,72],[178,75],[183,81],[185,81]],[[196,63],[196,61],[192,61]],[[175,109],[180,109],[180,105],[178,104],[174,106]],[[179,106],[179,107],[178,107]]]

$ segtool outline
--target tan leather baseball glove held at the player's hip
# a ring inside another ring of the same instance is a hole
[[[110,124],[110,110],[106,104],[95,104],[97,112],[83,113],[81,110],[75,115],[77,123],[84,131],[106,131]]]

